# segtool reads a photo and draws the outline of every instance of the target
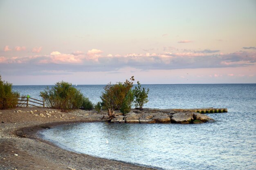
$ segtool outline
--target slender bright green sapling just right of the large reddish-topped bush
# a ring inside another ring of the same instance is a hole
[[[147,91],[144,87],[141,89],[139,81],[137,81],[137,83],[138,87],[135,87],[135,89],[133,89],[133,93],[135,96],[135,107],[142,108],[144,104],[148,102],[149,89],[147,89]]]

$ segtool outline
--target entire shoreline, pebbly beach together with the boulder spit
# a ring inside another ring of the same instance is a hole
[[[200,118],[199,118],[199,117]],[[113,123],[200,123],[213,121],[201,120],[200,113],[171,110],[132,109],[125,116],[117,111]],[[189,120],[190,119],[190,120]],[[61,112],[45,108],[15,108],[0,110],[0,169],[131,169],[148,170],[144,166],[121,161],[102,159],[61,149],[40,139],[36,132],[61,124],[78,122],[107,121],[106,111],[75,110]]]

